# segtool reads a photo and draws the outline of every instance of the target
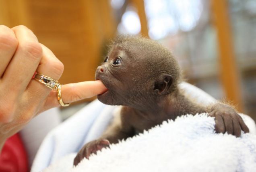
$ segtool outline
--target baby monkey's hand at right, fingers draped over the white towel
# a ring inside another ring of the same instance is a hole
[[[215,131],[217,133],[227,132],[228,134],[239,137],[241,136],[241,130],[245,133],[249,132],[242,117],[228,105],[221,103],[213,105],[209,112],[209,116],[215,117]]]

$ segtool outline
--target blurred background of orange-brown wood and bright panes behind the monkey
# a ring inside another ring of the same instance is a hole
[[[142,34],[173,52],[189,83],[256,119],[255,0],[0,0],[0,24],[29,27],[64,63],[61,83],[94,80],[109,40]]]

